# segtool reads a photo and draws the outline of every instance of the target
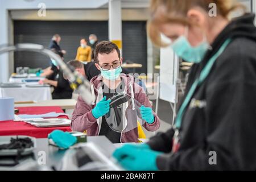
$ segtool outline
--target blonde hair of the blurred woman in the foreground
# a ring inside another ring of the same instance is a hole
[[[187,19],[187,13],[192,7],[201,7],[208,12],[210,3],[215,3],[217,7],[217,16],[228,19],[232,11],[244,6],[233,0],[151,0],[150,13],[151,19],[147,23],[148,35],[156,46],[164,46],[160,38],[158,24],[173,22],[181,24],[190,24]]]

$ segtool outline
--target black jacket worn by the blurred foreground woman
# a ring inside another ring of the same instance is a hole
[[[192,66],[187,91],[226,39],[232,39],[185,110],[180,148],[172,153],[174,130],[159,133],[148,144],[163,151],[164,170],[256,169],[256,28],[254,14],[232,20],[214,40],[200,64]],[[217,164],[210,164],[216,152]]]

